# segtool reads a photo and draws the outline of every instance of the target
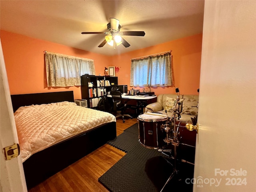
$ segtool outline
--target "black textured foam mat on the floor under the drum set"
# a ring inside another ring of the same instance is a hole
[[[131,132],[134,132],[135,129],[137,133],[132,134]],[[99,182],[112,192],[160,191],[173,172],[173,160],[167,159],[158,150],[143,147],[138,142],[137,124],[133,128],[125,130],[118,137],[114,141],[115,147],[128,152],[98,179]],[[121,146],[118,146],[119,144]],[[178,174],[166,185],[164,192],[173,190],[192,192],[193,185],[185,181],[187,178],[189,178],[188,180],[193,178],[194,165],[181,162],[178,165]]]

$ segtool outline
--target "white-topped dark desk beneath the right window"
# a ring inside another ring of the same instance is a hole
[[[111,95],[108,95],[109,98],[112,98]],[[138,117],[138,115],[144,112],[144,108],[150,104],[154,103],[157,100],[157,96],[148,96],[148,97],[141,97],[141,96],[129,96],[129,95],[122,95],[122,100],[127,102],[127,112],[128,114],[132,115],[133,117]]]

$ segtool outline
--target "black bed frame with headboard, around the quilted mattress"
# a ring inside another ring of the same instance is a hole
[[[74,102],[74,95],[73,91],[49,92],[11,95],[11,99],[15,112],[20,106]],[[33,154],[23,163],[27,188],[36,186],[115,137],[116,122],[111,122]]]

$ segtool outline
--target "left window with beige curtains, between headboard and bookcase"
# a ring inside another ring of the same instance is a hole
[[[95,75],[94,60],[47,52],[45,54],[48,87],[81,85],[80,76]]]

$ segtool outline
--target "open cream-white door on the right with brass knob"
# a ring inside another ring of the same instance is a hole
[[[256,1],[206,0],[194,192],[256,191]]]

